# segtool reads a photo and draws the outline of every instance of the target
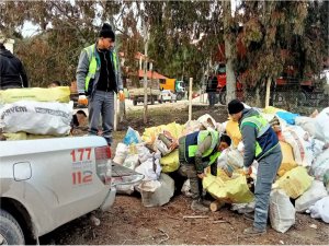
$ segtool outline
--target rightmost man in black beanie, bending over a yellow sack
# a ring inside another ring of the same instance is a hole
[[[253,226],[246,229],[243,234],[263,234],[266,232],[272,183],[282,162],[281,147],[272,127],[253,108],[245,108],[240,101],[232,99],[228,103],[228,114],[232,120],[239,122],[245,145],[245,173],[251,174],[254,160],[259,163],[254,187]]]

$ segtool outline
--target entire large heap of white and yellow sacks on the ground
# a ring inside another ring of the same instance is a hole
[[[259,110],[269,122],[277,122],[272,126],[283,150],[283,162],[271,194],[270,219],[273,229],[286,232],[295,223],[296,212],[307,212],[311,218],[329,223],[329,108],[311,117],[302,117],[277,108]],[[129,129],[124,143],[117,145],[114,161],[144,174],[145,179],[138,187],[123,187],[122,192],[145,191],[148,199],[144,195],[141,197],[146,207],[169,202],[174,187],[171,178],[164,173],[178,169],[179,162],[177,149],[163,150],[164,145],[159,143],[158,136],[164,132],[163,129],[175,139],[200,129],[212,128],[220,132],[226,130],[235,144],[222,153],[217,166],[225,171],[224,173],[239,171],[243,162],[243,145],[239,143],[240,140],[237,141],[240,133],[238,126],[236,125],[235,129],[231,126],[231,120],[219,124],[209,115],[204,115],[183,126],[171,122],[147,128],[141,138],[137,131]],[[253,164],[252,176],[256,178],[256,175],[257,162]],[[189,196],[185,184],[184,192]],[[159,189],[164,190],[161,195],[164,194],[162,197],[166,199],[159,199]],[[150,199],[152,195],[158,200]],[[240,204],[234,203],[232,209],[240,212],[252,210],[253,203],[242,204],[242,200]]]

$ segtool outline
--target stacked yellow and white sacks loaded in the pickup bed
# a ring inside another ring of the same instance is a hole
[[[0,91],[0,129],[7,140],[68,136],[73,113],[68,86]]]

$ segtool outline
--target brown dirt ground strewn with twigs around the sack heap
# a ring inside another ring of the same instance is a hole
[[[222,122],[227,118],[224,107],[193,108],[193,119],[211,114]],[[115,144],[121,142],[128,126],[143,133],[145,127],[188,120],[186,107],[161,107],[149,110],[149,121],[143,124],[140,110],[127,113],[127,119],[115,133]],[[114,144],[114,145],[115,145]],[[41,244],[66,245],[238,245],[238,244],[294,244],[327,245],[329,225],[307,214],[296,214],[296,224],[282,234],[268,226],[268,234],[257,237],[245,236],[242,231],[252,224],[241,214],[230,211],[229,206],[217,212],[193,212],[191,200],[178,195],[163,207],[145,208],[138,194],[117,195],[113,208],[99,214],[101,224],[92,225],[87,216],[75,220],[41,238]],[[202,219],[184,219],[188,215],[204,215]]]

